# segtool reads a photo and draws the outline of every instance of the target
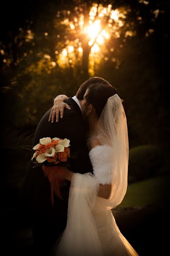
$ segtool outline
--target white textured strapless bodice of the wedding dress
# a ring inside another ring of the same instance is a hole
[[[102,185],[112,182],[111,165],[109,163],[110,153],[111,147],[108,145],[96,145],[89,152],[94,177]]]

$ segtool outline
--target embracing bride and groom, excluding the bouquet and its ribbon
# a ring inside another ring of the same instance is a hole
[[[77,157],[71,167],[48,167],[65,179],[62,199],[54,193],[53,206],[49,180],[30,161],[23,201],[36,255],[138,256],[111,212],[127,191],[129,144],[122,102],[108,81],[93,77],[76,96],[57,96],[42,116],[34,145],[44,137],[67,138]]]

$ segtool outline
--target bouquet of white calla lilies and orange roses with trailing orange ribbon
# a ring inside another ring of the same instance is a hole
[[[62,199],[59,188],[65,180],[55,177],[57,169],[54,166],[68,167],[70,166],[69,158],[75,158],[73,154],[70,154],[70,140],[46,137],[40,139],[40,143],[33,149],[35,152],[31,160],[34,167],[42,166],[44,176],[48,177],[51,184],[51,202],[54,205],[54,192]]]

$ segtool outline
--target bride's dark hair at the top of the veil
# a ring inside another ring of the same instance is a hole
[[[105,107],[108,98],[113,96],[115,93],[120,97],[118,91],[111,84],[92,84],[88,87],[88,95],[86,96],[86,108],[87,105],[92,104],[96,110],[96,114],[100,117],[103,108]]]

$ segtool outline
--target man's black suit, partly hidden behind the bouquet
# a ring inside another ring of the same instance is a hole
[[[34,145],[38,144],[43,137],[67,138],[70,140],[71,150],[78,152],[77,158],[71,159],[69,169],[82,174],[92,172],[82,112],[72,98],[68,98],[65,102],[71,110],[65,108],[64,116],[59,119],[59,122],[48,122],[51,109],[42,116],[34,135]],[[33,153],[34,151],[32,155]],[[60,189],[64,201],[54,194],[54,206],[52,207],[48,178],[44,177],[41,167],[32,167],[33,164],[30,161],[23,183],[23,201],[26,211],[29,212],[35,246],[39,253],[41,250],[41,253],[45,255],[66,227],[70,182],[68,181],[68,185]]]

